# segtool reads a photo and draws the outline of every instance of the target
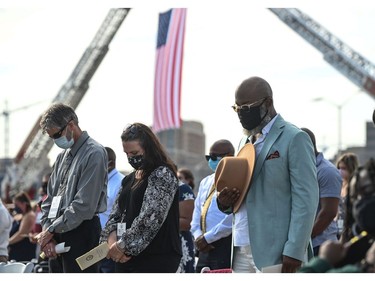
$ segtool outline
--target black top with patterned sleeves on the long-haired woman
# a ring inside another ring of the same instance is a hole
[[[126,263],[116,263],[115,272],[175,273],[182,253],[174,174],[159,167],[141,182],[136,182],[135,173],[129,174],[115,205],[107,226],[117,224],[119,218],[126,223],[125,253],[132,256]]]

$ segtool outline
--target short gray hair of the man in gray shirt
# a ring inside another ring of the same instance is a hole
[[[44,134],[52,128],[61,129],[72,120],[78,125],[78,117],[74,109],[63,103],[55,103],[43,113],[39,125]]]

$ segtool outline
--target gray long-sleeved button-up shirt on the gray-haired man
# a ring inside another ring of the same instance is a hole
[[[73,158],[68,170],[64,170],[65,154]],[[42,204],[42,225],[52,223],[56,233],[75,229],[84,220],[104,212],[107,207],[107,153],[105,148],[90,138],[84,131],[71,149],[62,151],[53,165],[48,182],[48,197]],[[48,219],[48,213],[54,196],[60,185],[65,184],[60,211],[56,219]]]

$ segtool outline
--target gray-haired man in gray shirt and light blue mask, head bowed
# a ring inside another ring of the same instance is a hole
[[[53,104],[43,114],[40,127],[64,150],[53,165],[48,196],[42,203],[43,231],[38,243],[47,257],[59,260],[63,272],[82,272],[76,258],[98,245],[98,214],[106,210],[107,153],[80,129],[70,106]],[[55,246],[62,242],[70,250],[57,255]],[[84,272],[98,270],[95,264]]]

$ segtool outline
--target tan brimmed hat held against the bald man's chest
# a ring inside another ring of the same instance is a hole
[[[249,190],[254,164],[254,145],[247,143],[241,148],[237,156],[226,156],[217,165],[215,171],[216,190],[220,192],[224,187],[235,187],[240,190],[240,197],[233,206],[234,213],[240,208]]]

